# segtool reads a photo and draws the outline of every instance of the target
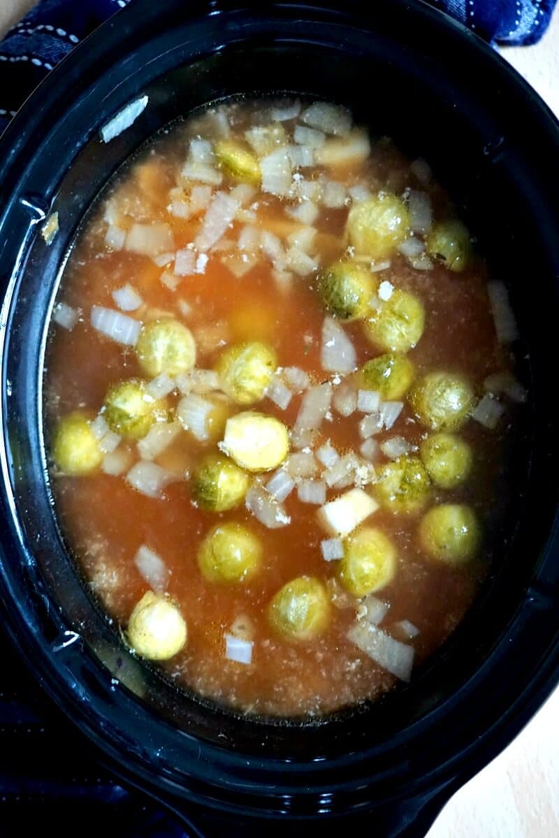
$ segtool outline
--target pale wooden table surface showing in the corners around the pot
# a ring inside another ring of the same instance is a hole
[[[0,37],[32,5],[0,0]],[[539,44],[501,53],[559,116],[559,8]],[[515,742],[454,795],[427,838],[559,838],[557,718],[559,689]]]

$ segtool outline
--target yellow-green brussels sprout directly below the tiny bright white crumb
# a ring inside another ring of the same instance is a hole
[[[406,291],[396,289],[386,303],[365,320],[365,331],[372,343],[392,352],[407,352],[423,334],[425,309]]]

